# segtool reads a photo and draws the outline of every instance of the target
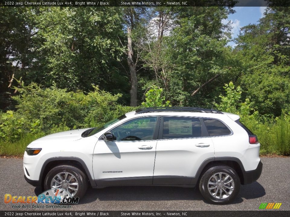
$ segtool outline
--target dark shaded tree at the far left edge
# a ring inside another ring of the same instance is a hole
[[[10,104],[12,88],[26,79],[28,67],[34,59],[37,34],[35,17],[37,7],[1,7],[0,10],[0,102],[4,108]],[[1,97],[4,96],[4,97]]]

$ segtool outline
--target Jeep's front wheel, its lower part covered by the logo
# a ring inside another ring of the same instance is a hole
[[[44,188],[68,191],[72,197],[82,197],[88,187],[86,175],[72,165],[59,165],[52,168],[45,177]]]

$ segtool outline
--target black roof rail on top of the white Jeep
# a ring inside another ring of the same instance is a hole
[[[203,113],[223,114],[218,110],[199,107],[147,107],[137,109],[135,114],[149,112],[203,112]]]

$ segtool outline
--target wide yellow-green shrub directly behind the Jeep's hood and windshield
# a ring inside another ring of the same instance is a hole
[[[121,94],[111,95],[94,86],[94,91],[67,92],[66,89],[41,88],[35,83],[19,88],[17,114],[28,120],[39,119],[45,134],[83,127],[98,127],[124,111],[133,110],[117,103]],[[53,129],[53,130],[52,130]]]

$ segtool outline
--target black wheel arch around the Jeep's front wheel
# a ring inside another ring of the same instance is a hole
[[[92,187],[96,186],[95,181],[92,179],[92,176],[89,172],[87,165],[82,159],[78,157],[53,157],[53,158],[47,159],[42,165],[40,175],[39,175],[39,181],[41,183],[42,189],[44,187],[43,181],[48,171],[50,171],[53,167],[56,167],[58,165],[72,165],[79,168],[85,173],[85,175],[90,181],[91,186]]]

